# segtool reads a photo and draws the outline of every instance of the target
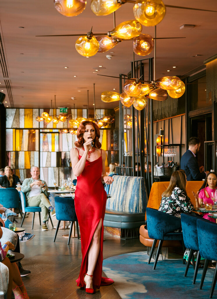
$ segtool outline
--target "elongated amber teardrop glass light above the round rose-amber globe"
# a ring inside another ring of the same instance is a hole
[[[125,21],[117,25],[111,35],[120,39],[131,39],[138,36],[142,31],[142,25],[137,20]]]

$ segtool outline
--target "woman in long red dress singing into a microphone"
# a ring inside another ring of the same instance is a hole
[[[81,234],[82,263],[77,286],[85,287],[87,293],[114,281],[102,277],[103,219],[106,210],[106,191],[103,183],[111,184],[106,176],[106,152],[100,149],[100,130],[89,121],[80,123],[78,141],[70,151],[72,170],[77,176],[75,211]],[[93,146],[91,143],[94,143]]]

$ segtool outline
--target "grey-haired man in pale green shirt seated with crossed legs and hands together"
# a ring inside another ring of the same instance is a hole
[[[26,193],[29,207],[40,207],[42,213],[42,231],[47,231],[47,212],[54,210],[48,200],[48,187],[45,181],[39,179],[40,170],[33,166],[30,170],[31,178],[24,179],[21,191]]]

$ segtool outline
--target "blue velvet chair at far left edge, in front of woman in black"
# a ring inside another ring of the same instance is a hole
[[[0,204],[3,205],[4,208],[8,209],[17,208],[21,216],[23,216],[20,210],[19,192],[15,188],[0,189]]]

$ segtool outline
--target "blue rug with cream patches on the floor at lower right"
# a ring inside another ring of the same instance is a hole
[[[146,252],[121,254],[103,260],[103,271],[114,280],[114,287],[123,299],[209,298],[214,269],[207,269],[203,289],[199,290],[203,269],[198,270],[193,285],[193,267],[184,277],[182,260],[159,260],[156,270],[154,260],[149,265],[147,262]],[[217,284],[213,298],[217,298]]]

